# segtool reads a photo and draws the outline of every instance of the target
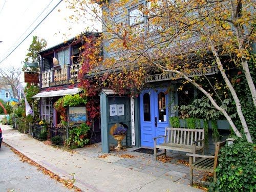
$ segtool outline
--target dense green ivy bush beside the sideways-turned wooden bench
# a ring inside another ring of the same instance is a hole
[[[221,148],[217,182],[209,191],[255,191],[256,145],[242,139]]]

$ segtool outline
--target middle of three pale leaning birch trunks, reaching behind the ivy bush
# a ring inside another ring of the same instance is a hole
[[[231,92],[231,95],[234,99],[234,102],[236,103],[236,107],[237,107],[237,113],[238,113],[238,116],[240,118],[240,121],[242,123],[242,126],[243,126],[243,129],[244,129],[244,133],[245,133],[245,136],[246,136],[246,139],[248,142],[252,143],[252,139],[251,139],[251,135],[250,135],[250,132],[249,132],[249,129],[248,129],[248,126],[246,124],[246,121],[245,121],[245,118],[244,118],[244,115],[242,113],[242,108],[241,108],[241,103],[240,103],[240,100],[237,96],[237,93],[236,91],[234,90],[232,84],[230,83],[229,79],[227,78],[227,75],[226,73],[224,72],[224,69],[223,69],[223,66],[222,66],[222,63],[221,63],[221,60],[218,56],[218,53],[216,51],[216,49],[214,48],[214,45],[212,45],[212,42],[210,41],[210,44],[211,44],[211,51],[212,53],[214,54],[214,56],[216,57],[216,62],[218,64],[218,67],[219,67],[219,70],[221,72],[221,75],[224,79],[224,81],[226,82],[227,86],[228,86],[228,89],[230,90]],[[223,114],[224,115],[224,114]]]

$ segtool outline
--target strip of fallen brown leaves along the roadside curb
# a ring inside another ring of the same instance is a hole
[[[45,167],[39,165],[38,163],[32,161],[31,159],[29,159],[28,157],[26,157],[22,153],[18,152],[14,148],[12,148],[12,147],[10,147],[10,148],[11,148],[11,151],[14,154],[16,154],[22,162],[27,162],[30,165],[33,165],[33,166],[37,167],[37,170],[40,170],[45,175],[49,175],[51,179],[55,179],[56,181],[62,183],[65,187],[67,187],[69,189],[73,188],[75,191],[81,191],[81,189],[74,186],[74,182],[75,182],[74,179],[72,179],[72,180],[70,180],[70,179],[69,180],[61,179],[58,175],[54,174],[53,172],[51,172],[50,170],[46,169]]]

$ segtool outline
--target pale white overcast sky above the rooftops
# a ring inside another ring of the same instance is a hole
[[[0,41],[3,41],[0,42],[0,62],[22,42],[59,1],[0,0]],[[22,61],[25,60],[28,53],[27,50],[34,35],[44,38],[48,44],[47,48],[49,48],[74,37],[87,27],[89,27],[90,31],[95,31],[95,27],[92,27],[91,22],[87,22],[87,24],[71,24],[69,16],[72,14],[72,11],[67,9],[66,5],[62,1],[26,40],[0,63],[0,68],[3,69],[9,66],[22,68]],[[44,9],[46,10],[44,11]],[[89,15],[86,17],[89,17]],[[69,30],[69,28],[71,29]],[[96,24],[96,29],[101,31],[101,25]],[[63,34],[66,34],[66,36]]]

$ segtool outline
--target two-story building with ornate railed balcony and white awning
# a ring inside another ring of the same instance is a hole
[[[65,95],[80,93],[78,74],[81,69],[79,60],[84,44],[83,36],[98,37],[98,32],[87,32],[80,36],[61,42],[54,47],[39,52],[40,63],[40,92],[33,96],[40,100],[40,117],[52,126],[60,123],[60,114],[54,109],[54,102]],[[84,106],[85,108],[85,106]],[[98,121],[96,122],[98,124]],[[99,126],[94,126],[94,131]],[[100,135],[100,134],[99,134]]]

